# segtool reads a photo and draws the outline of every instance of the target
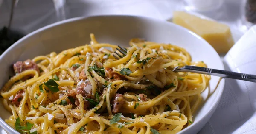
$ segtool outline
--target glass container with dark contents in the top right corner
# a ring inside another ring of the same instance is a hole
[[[250,27],[256,25],[256,0],[241,0],[240,12],[239,29],[246,32]]]

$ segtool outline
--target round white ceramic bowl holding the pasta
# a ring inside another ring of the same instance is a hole
[[[216,51],[201,37],[170,22],[134,16],[96,16],[64,20],[30,33],[16,42],[0,56],[0,87],[12,75],[12,64],[19,60],[32,59],[52,51],[88,44],[89,34],[94,33],[99,42],[128,46],[131,38],[145,38],[159,43],[171,43],[184,47],[193,61],[204,61],[208,67],[224,69]],[[215,90],[218,77],[212,76],[210,88],[202,95],[204,102],[194,115],[194,123],[179,134],[195,134],[209,120],[215,111],[224,89],[224,79]],[[211,95],[208,95],[211,94]],[[0,105],[0,126],[8,133],[18,134],[4,120],[11,114]]]

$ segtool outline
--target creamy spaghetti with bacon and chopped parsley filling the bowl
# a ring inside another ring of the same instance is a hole
[[[174,67],[206,67],[178,46],[131,39],[37,56],[13,65],[2,87],[10,126],[27,134],[172,134],[188,127],[210,76],[175,73]],[[117,57],[117,56],[116,56]]]

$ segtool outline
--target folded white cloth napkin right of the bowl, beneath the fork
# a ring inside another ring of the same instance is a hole
[[[225,70],[256,75],[256,25],[224,57]],[[256,134],[256,83],[226,79],[220,103],[199,134]]]

